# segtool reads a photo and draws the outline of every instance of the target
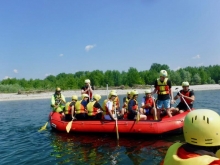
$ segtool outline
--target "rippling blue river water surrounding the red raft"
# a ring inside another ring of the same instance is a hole
[[[220,114],[219,93],[220,90],[196,91],[194,108]],[[123,97],[120,96],[121,101]],[[139,95],[139,102],[142,97]],[[184,141],[182,134],[120,134],[117,143],[115,134],[58,133],[49,126],[38,132],[47,122],[49,105],[50,99],[0,102],[1,165],[155,165],[171,144]]]

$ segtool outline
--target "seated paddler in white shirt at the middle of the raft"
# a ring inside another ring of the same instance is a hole
[[[116,112],[116,105],[114,104],[115,97],[117,97],[117,93],[115,91],[111,91],[109,98],[103,102],[102,109],[104,111],[103,114],[105,120],[116,120],[116,118],[123,119],[123,114],[117,114]]]

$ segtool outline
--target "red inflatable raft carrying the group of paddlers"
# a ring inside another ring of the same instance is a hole
[[[119,133],[139,133],[139,134],[163,134],[176,130],[181,130],[183,121],[189,111],[175,115],[165,116],[161,121],[149,120],[118,120]],[[51,112],[49,115],[50,125],[58,131],[66,131],[68,121],[62,121],[62,115]],[[108,120],[74,120],[70,132],[108,132],[115,133],[115,121]]]

